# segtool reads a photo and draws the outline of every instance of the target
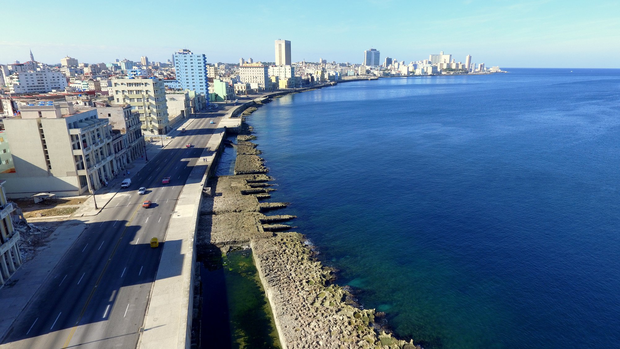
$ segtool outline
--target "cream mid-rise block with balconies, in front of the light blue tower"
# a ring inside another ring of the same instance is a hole
[[[112,79],[114,104],[131,105],[138,111],[144,134],[165,135],[170,130],[166,88],[161,78]]]

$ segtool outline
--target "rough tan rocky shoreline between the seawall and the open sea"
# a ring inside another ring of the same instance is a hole
[[[314,258],[303,235],[286,231],[292,228],[286,222],[295,216],[267,215],[288,203],[263,202],[273,190],[273,178],[250,142],[255,139],[251,132],[244,120],[235,174],[211,181],[213,196],[202,202],[198,245],[222,253],[252,248],[283,349],[420,348],[386,333],[378,324],[380,313],[361,309],[346,288],[330,283],[332,270]]]

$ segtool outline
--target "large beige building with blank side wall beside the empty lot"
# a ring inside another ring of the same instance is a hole
[[[97,109],[73,102],[20,105],[4,119],[14,169],[0,173],[6,193],[76,196],[99,189],[114,174],[112,128]]]

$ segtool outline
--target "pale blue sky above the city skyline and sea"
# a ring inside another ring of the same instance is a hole
[[[2,25],[0,63],[27,61],[30,48],[45,63],[166,61],[179,48],[211,63],[274,61],[276,39],[291,40],[293,61],[361,63],[370,47],[382,61],[443,50],[500,67],[616,68],[620,59],[620,0],[0,0],[0,8],[15,14]]]

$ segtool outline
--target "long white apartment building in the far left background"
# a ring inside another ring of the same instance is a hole
[[[58,71],[37,68],[33,71],[15,71],[6,76],[5,84],[11,93],[45,93],[63,90],[67,87],[67,79]]]

